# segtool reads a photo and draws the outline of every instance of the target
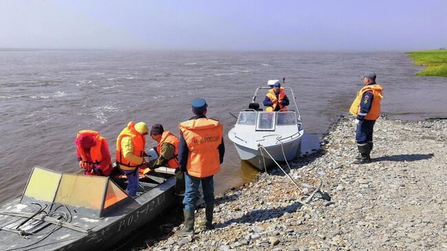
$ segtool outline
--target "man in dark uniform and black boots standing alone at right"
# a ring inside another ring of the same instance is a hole
[[[363,76],[363,87],[352,102],[349,113],[356,117],[356,142],[360,156],[354,164],[371,163],[370,153],[373,150],[373,128],[375,120],[380,116],[380,100],[383,88],[375,83],[375,73],[367,72]]]

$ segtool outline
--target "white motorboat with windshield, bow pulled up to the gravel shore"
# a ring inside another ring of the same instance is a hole
[[[228,138],[235,143],[239,157],[261,171],[274,166],[274,160],[293,160],[298,154],[304,134],[292,88],[283,86],[290,100],[287,111],[263,111],[255,102],[260,89],[270,89],[278,82],[279,80],[269,80],[270,87],[257,88],[249,109],[239,112],[235,127],[228,132]],[[290,109],[292,103],[296,110]]]

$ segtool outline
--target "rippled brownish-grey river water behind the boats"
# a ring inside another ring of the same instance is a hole
[[[347,113],[367,71],[384,87],[384,112],[446,117],[446,78],[415,77],[419,69],[403,52],[0,51],[0,202],[21,195],[32,166],[78,171],[81,129],[100,131],[114,158],[130,120],[178,135],[177,124],[192,116],[190,101],[205,98],[226,135],[235,123],[229,112],[246,109],[254,89],[283,76],[303,118],[303,151],[318,148],[321,133]],[[225,144],[217,193],[255,173],[227,137]]]

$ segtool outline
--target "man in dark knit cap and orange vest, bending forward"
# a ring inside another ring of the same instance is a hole
[[[147,164],[147,167],[153,169],[160,166],[167,166],[168,168],[175,168],[175,182],[174,190],[177,195],[184,195],[185,193],[185,179],[182,171],[179,168],[179,138],[173,135],[170,131],[164,131],[162,124],[154,124],[151,128],[151,137],[158,144],[156,151],[158,158],[152,160]]]

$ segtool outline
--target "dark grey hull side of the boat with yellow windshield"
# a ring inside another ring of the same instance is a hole
[[[89,234],[61,228],[40,243],[32,245],[38,239],[33,237],[25,239],[18,234],[2,230],[0,231],[0,249],[8,250],[31,245],[32,250],[110,250],[113,244],[128,237],[132,232],[157,217],[175,201],[174,185],[175,177],[171,177],[104,218],[86,219],[79,216],[77,219],[83,220],[79,222],[80,224],[92,228]],[[17,205],[21,205],[19,199],[14,199],[1,208]],[[0,222],[10,219],[12,218],[2,216]]]

